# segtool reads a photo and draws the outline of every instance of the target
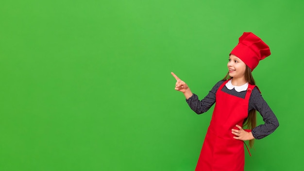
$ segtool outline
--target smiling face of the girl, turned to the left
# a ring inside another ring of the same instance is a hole
[[[233,78],[245,77],[246,64],[236,55],[230,54],[229,62],[227,64],[229,69],[229,76]]]

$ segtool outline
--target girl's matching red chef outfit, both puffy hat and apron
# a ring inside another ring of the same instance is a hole
[[[253,33],[244,33],[230,54],[240,58],[251,70],[270,55],[270,49]],[[245,98],[222,91],[216,92],[216,104],[195,171],[244,171],[244,142],[233,138],[232,129],[243,126],[248,117],[248,103],[256,85],[248,84]],[[250,132],[251,130],[246,130]]]

